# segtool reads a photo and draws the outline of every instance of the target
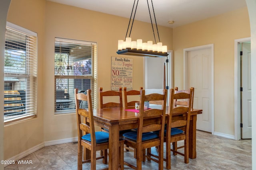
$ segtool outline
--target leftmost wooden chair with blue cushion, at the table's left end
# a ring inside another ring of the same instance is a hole
[[[103,158],[103,163],[107,164],[107,149],[109,143],[109,134],[106,132],[94,129],[94,119],[92,112],[92,96],[91,90],[87,90],[86,94],[78,93],[78,89],[74,90],[75,104],[76,104],[76,118],[78,127],[78,170],[82,170],[82,164],[86,162],[91,163],[91,170],[96,169],[96,160]],[[79,101],[87,102],[88,109],[80,108]],[[81,120],[83,117],[83,121]],[[124,140],[120,139],[119,143],[119,162],[120,169],[124,169]],[[88,149],[90,152],[84,152],[86,160],[83,160],[84,150]],[[103,156],[96,158],[96,151],[104,150]],[[90,155],[89,155],[90,154]],[[88,158],[88,159],[87,159]]]

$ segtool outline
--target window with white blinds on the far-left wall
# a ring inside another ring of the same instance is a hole
[[[4,54],[4,122],[36,116],[37,34],[7,22]]]

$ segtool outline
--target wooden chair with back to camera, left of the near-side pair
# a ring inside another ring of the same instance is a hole
[[[145,90],[140,90],[140,110],[138,113],[138,129],[137,131],[124,133],[124,144],[136,149],[136,166],[128,162],[125,165],[141,170],[142,160],[145,154],[145,149],[151,147],[158,147],[159,157],[158,169],[163,169],[163,146],[164,146],[164,124],[166,112],[166,98],[167,90],[164,89],[163,94],[148,94],[145,95]],[[155,109],[144,110],[145,101],[159,101],[162,100],[162,107]],[[160,131],[156,134],[153,131]]]

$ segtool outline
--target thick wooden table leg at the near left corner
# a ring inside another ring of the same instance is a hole
[[[109,127],[109,170],[118,170],[119,168],[119,126],[110,125]]]

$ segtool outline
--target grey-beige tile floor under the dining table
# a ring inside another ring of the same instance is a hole
[[[234,141],[197,131],[196,141],[197,158],[190,159],[185,164],[183,157],[172,156],[172,170],[251,170],[252,169],[252,143],[251,140]],[[154,148],[152,152],[156,151]],[[133,152],[124,152],[127,162],[134,162]],[[6,166],[4,170],[76,170],[77,169],[77,143],[65,143],[44,147],[22,158],[32,160],[33,164],[18,164]],[[102,160],[97,160],[97,170],[106,168]],[[166,167],[164,162],[164,168]],[[90,163],[83,164],[83,170],[89,170]],[[130,169],[128,166],[125,170]],[[156,162],[143,162],[143,170],[158,170]]]

